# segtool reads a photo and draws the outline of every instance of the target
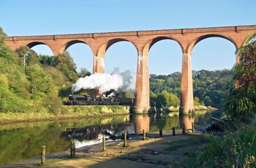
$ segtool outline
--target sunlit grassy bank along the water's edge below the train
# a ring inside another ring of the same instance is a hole
[[[123,115],[131,110],[129,106],[64,106],[63,108],[64,112],[59,114],[48,112],[0,112],[0,123]]]

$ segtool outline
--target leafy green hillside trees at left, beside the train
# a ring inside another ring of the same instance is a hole
[[[64,112],[64,99],[80,76],[69,53],[38,56],[27,46],[14,52],[5,37],[0,28],[0,112]]]

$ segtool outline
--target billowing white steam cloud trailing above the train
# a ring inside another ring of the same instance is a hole
[[[80,89],[99,89],[99,93],[105,93],[113,89],[114,91],[135,91],[136,77],[135,73],[129,70],[119,72],[115,68],[112,74],[94,73],[93,75],[80,77],[78,81],[72,85],[72,94]]]

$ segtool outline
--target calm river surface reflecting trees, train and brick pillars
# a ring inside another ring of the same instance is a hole
[[[62,121],[39,121],[0,125],[0,166],[40,156],[42,145],[46,153],[58,153],[69,150],[70,140],[75,140],[75,147],[121,137],[128,134],[181,129],[185,123],[191,129],[211,124],[211,117],[220,118],[221,112],[196,111],[195,117],[179,116],[178,112],[156,113],[150,115],[118,115],[102,118],[83,118]]]

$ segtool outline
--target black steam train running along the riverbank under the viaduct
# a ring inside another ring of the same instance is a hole
[[[66,105],[128,105],[133,106],[132,98],[92,97],[89,95],[69,95]]]

